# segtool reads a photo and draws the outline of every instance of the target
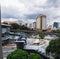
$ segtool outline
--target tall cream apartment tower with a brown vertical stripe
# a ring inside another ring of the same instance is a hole
[[[36,18],[36,30],[42,31],[46,30],[46,15],[40,14]]]

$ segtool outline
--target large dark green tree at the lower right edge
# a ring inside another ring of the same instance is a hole
[[[54,59],[60,59],[60,38],[51,40],[46,48],[46,53],[52,55]]]

